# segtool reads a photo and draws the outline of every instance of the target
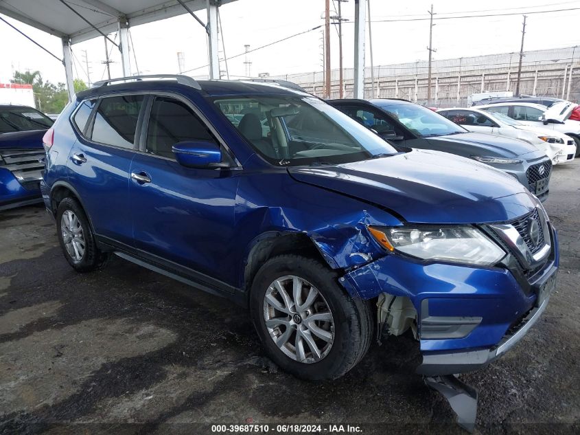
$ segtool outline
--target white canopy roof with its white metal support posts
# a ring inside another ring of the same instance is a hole
[[[235,0],[0,0],[0,13],[62,39],[63,63],[69,96],[74,95],[71,45],[111,32],[119,32],[124,76],[131,76],[130,26],[151,23],[200,10],[207,12],[209,76],[220,78],[218,58],[218,7]],[[362,98],[364,82],[364,30],[367,0],[355,0],[355,97]],[[196,19],[198,19],[196,17]],[[200,21],[198,19],[198,21]],[[201,21],[200,21],[201,22]]]

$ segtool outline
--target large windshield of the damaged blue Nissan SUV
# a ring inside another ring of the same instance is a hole
[[[240,96],[214,100],[253,148],[278,166],[333,165],[397,150],[311,96]]]

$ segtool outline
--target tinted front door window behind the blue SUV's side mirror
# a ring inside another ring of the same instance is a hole
[[[189,140],[216,142],[187,104],[173,98],[155,98],[149,117],[146,151],[172,159],[172,146]]]

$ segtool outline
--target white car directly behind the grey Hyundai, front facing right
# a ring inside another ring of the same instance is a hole
[[[491,109],[483,111],[473,107],[452,107],[437,112],[469,131],[524,140],[544,151],[552,164],[572,161],[576,155],[577,149],[572,137],[552,129],[523,124],[503,113],[492,112]]]

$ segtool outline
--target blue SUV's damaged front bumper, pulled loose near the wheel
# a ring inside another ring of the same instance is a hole
[[[546,263],[527,278],[509,267],[388,255],[350,271],[340,282],[354,297],[386,293],[410,300],[417,311],[421,375],[470,372],[506,353],[546,309],[559,263],[557,234],[551,227],[550,238]],[[505,263],[513,265],[510,256]]]

